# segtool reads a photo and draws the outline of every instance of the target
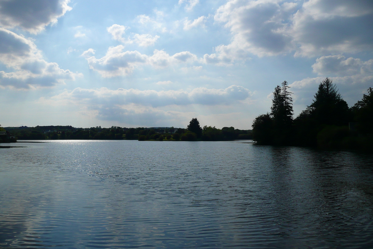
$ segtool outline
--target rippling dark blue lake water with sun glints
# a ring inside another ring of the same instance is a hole
[[[0,149],[0,248],[373,248],[372,155],[238,142],[19,145]]]

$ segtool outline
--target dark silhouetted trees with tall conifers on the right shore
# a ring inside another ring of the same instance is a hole
[[[263,145],[373,148],[373,89],[348,107],[332,80],[319,84],[313,102],[293,118],[287,81],[273,91],[271,112],[253,121],[253,140]]]

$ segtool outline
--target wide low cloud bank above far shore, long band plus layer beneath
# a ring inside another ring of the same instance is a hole
[[[232,85],[226,89],[195,88],[192,91],[154,91],[107,88],[64,91],[49,99],[42,97],[39,102],[44,105],[73,105],[75,109],[83,109],[97,119],[125,122],[128,124],[164,125],[178,119],[185,122],[195,113],[163,111],[160,107],[175,105],[231,105],[244,101],[251,92],[240,86]],[[171,122],[171,123],[172,123]]]

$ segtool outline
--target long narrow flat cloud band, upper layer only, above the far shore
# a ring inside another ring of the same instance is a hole
[[[231,85],[225,89],[208,89],[204,87],[195,88],[192,91],[183,90],[137,90],[123,89],[110,90],[108,88],[83,89],[75,88],[65,91],[51,100],[68,100],[73,102],[84,102],[87,105],[142,105],[153,108],[169,105],[230,105],[251,96],[250,90]]]

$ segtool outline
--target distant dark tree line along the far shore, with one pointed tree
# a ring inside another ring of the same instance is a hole
[[[2,127],[0,127],[2,128]],[[197,118],[193,118],[187,128],[173,127],[137,127],[126,128],[112,126],[101,128],[75,128],[68,126],[5,127],[18,140],[182,140],[182,141],[222,141],[251,139],[251,130],[239,130],[234,127],[200,127]],[[162,134],[159,131],[162,130]],[[169,131],[175,133],[169,133]]]

